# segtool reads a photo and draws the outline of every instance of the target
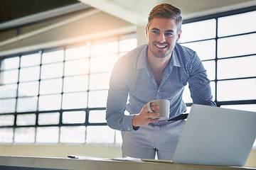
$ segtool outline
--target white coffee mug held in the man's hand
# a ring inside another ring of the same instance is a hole
[[[156,106],[159,106],[160,109],[157,110],[157,111],[152,111],[151,107],[150,107],[151,103],[156,103]],[[160,118],[160,120],[169,119],[169,112],[170,112],[170,102],[169,102],[169,100],[158,99],[158,100],[154,100],[154,101],[149,101],[149,103],[147,103],[146,106],[147,106],[150,113],[160,113],[159,117],[154,117],[154,118]]]

